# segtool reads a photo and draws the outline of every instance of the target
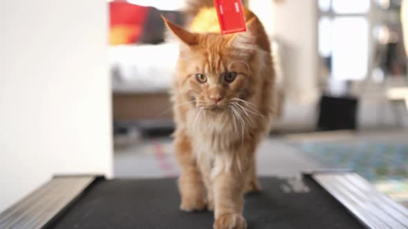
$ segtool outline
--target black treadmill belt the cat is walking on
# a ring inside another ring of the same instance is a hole
[[[245,196],[248,228],[364,228],[308,177],[265,177],[261,185]],[[51,227],[212,228],[212,212],[181,212],[179,203],[175,179],[102,179]]]

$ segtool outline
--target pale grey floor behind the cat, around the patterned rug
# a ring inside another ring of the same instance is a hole
[[[382,141],[387,143],[408,143],[406,130],[392,132],[324,132],[302,135],[270,137],[261,143],[257,152],[257,169],[264,176],[292,176],[305,170],[333,169],[333,163],[319,161],[302,152],[300,143],[342,142],[342,141]],[[171,139],[150,139],[117,144],[114,157],[115,177],[176,177],[178,165],[174,159]],[[402,183],[402,185],[405,185]],[[400,184],[378,183],[378,188],[392,195]],[[406,195],[406,193],[402,193]],[[404,196],[405,198],[405,196]],[[402,201],[407,204],[406,201]]]

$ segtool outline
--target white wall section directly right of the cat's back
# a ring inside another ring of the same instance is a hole
[[[286,96],[298,101],[317,97],[317,1],[251,0],[250,8],[279,41]]]

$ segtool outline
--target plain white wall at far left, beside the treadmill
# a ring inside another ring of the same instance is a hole
[[[0,211],[55,173],[111,174],[106,1],[0,1]]]

